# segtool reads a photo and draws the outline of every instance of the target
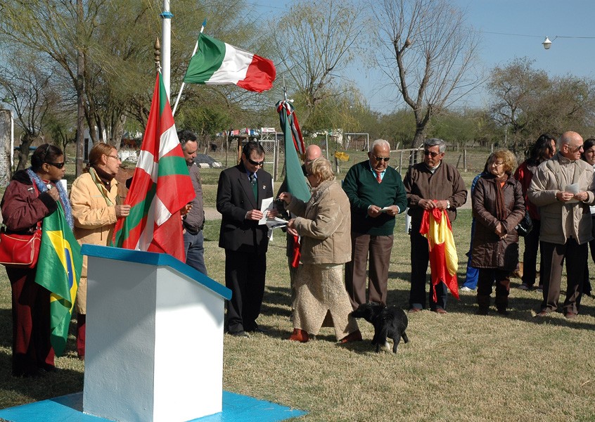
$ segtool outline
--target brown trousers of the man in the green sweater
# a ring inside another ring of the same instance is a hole
[[[366,267],[370,256],[369,301],[386,305],[388,267],[395,236],[370,236],[351,232],[351,261],[345,264],[345,289],[353,309],[366,303]]]

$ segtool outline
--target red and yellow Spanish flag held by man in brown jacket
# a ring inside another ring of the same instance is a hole
[[[437,208],[431,211],[425,210],[419,233],[428,238],[434,300],[437,300],[435,286],[440,281],[444,282],[452,295],[459,299],[459,283],[456,281],[459,258],[456,255],[448,213]]]

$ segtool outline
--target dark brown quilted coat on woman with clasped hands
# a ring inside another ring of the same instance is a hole
[[[509,176],[502,187],[506,219],[496,217],[497,181],[493,174],[478,180],[473,192],[473,252],[471,267],[513,271],[518,264],[518,234],[515,227],[525,216],[525,200],[520,183]],[[494,232],[498,222],[506,238]]]

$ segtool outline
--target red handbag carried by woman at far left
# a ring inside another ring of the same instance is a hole
[[[8,234],[6,227],[0,230],[0,264],[13,268],[34,268],[39,257],[41,229],[33,234]]]

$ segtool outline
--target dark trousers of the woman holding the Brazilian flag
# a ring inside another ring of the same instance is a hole
[[[13,375],[53,369],[50,343],[50,293],[35,283],[34,269],[7,268],[13,305]]]

